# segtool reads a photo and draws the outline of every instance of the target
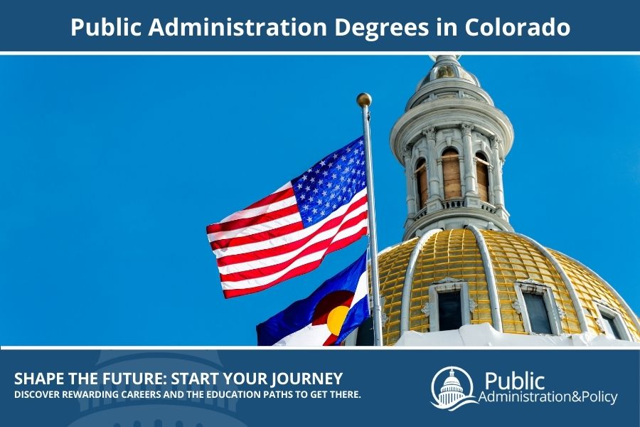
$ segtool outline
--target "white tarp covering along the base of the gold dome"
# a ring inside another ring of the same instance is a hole
[[[604,335],[503,334],[489,323],[464,325],[459,330],[442,332],[407,331],[395,343],[401,347],[640,347],[638,342],[611,339]]]

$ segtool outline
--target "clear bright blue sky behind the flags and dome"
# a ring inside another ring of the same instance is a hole
[[[640,57],[464,56],[516,130],[516,231],[640,312]],[[205,226],[361,135],[373,95],[379,246],[405,181],[388,135],[427,56],[1,57],[0,344],[255,344],[355,260],[224,300]]]

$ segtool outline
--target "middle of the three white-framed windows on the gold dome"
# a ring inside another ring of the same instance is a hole
[[[513,308],[522,316],[524,330],[530,334],[560,335],[562,324],[551,288],[533,280],[516,282],[518,300]]]

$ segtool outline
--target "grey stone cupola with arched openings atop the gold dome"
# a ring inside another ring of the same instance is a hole
[[[435,58],[390,144],[407,179],[404,240],[437,228],[513,231],[502,181],[513,127],[457,56]]]

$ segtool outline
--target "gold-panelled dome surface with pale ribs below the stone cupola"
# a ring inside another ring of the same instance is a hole
[[[471,325],[488,322],[504,333],[530,334],[518,299],[521,290],[516,288],[532,286],[553,295],[557,334],[604,334],[607,325],[602,310],[606,310],[617,317],[626,339],[640,339],[637,318],[608,283],[576,260],[518,233],[473,227],[430,231],[422,239],[385,249],[378,259],[387,319],[385,345],[400,338],[403,289],[407,292],[408,330],[430,332],[425,308],[429,307],[430,287],[462,282],[468,292]],[[411,275],[412,283],[405,287],[405,277]]]

